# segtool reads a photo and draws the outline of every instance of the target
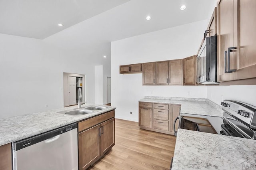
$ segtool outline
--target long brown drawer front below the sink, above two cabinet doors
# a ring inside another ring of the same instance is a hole
[[[98,125],[104,121],[107,121],[108,119],[111,119],[115,117],[115,111],[110,111],[108,113],[104,113],[102,115],[86,119],[85,121],[78,123],[78,132],[85,130],[87,128],[93,127],[95,125]]]

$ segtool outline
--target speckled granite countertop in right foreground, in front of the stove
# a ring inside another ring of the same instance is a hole
[[[178,129],[172,170],[256,169],[256,140]]]

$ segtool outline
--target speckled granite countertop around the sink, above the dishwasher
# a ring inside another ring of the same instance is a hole
[[[95,106],[92,104],[84,104],[82,107]],[[116,107],[106,106],[107,109],[89,113],[86,115],[67,115],[57,113],[65,110],[72,110],[77,106],[65,107],[46,112],[31,113],[15,117],[0,119],[0,146],[15,142],[30,136],[34,136],[55,128],[63,127],[71,123],[81,121],[104,112],[116,109]]]

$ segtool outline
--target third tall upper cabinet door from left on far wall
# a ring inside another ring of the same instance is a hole
[[[169,61],[169,85],[182,85],[182,59]]]

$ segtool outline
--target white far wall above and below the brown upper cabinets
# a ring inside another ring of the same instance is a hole
[[[142,86],[141,73],[119,74],[119,65],[195,55],[207,24],[202,20],[111,43],[111,105],[117,107],[116,118],[138,121],[138,100],[146,95],[207,97],[206,86]]]

